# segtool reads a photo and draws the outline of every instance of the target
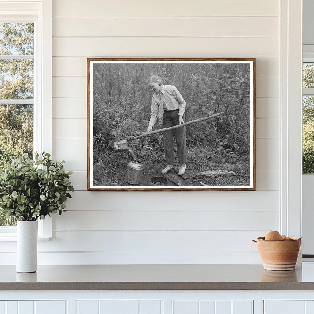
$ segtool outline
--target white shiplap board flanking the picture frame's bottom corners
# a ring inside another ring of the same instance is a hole
[[[74,171],[73,176],[71,176],[71,181],[75,191],[86,191],[87,171]],[[257,191],[279,190],[279,171],[257,171],[256,190]]]

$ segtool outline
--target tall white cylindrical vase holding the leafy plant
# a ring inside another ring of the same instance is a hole
[[[16,271],[34,273],[37,271],[37,221],[18,221],[16,248]]]

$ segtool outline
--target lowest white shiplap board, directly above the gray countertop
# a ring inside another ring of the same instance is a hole
[[[258,252],[39,252],[39,265],[261,264]],[[0,252],[0,265],[16,264],[15,252]]]

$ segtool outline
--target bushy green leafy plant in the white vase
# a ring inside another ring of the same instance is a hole
[[[73,191],[69,182],[73,172],[63,169],[64,160],[52,161],[50,156],[37,153],[35,160],[30,160],[24,153],[0,168],[0,208],[7,217],[36,221],[66,211],[67,198],[72,198],[68,190]]]

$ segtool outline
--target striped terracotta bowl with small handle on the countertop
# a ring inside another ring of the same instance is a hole
[[[301,238],[284,241],[267,241],[265,237],[257,238],[257,249],[263,266],[268,270],[293,270],[298,259]]]

